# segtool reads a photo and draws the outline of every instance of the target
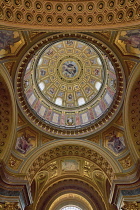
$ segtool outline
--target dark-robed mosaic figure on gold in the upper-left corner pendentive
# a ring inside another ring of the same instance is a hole
[[[14,46],[18,41],[20,41],[20,37],[14,37],[13,31],[0,31],[0,50],[6,50],[8,53],[11,53],[10,46]]]

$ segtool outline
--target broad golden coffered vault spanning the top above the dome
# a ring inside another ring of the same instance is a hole
[[[3,26],[52,31],[102,30],[136,26],[140,5],[137,0],[3,0]]]

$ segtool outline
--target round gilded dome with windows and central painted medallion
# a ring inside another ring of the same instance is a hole
[[[116,71],[119,64],[114,65],[112,56],[87,40],[65,38],[43,42],[37,44],[41,45],[40,49],[28,58],[22,71],[19,103],[28,120],[41,125],[43,131],[51,132],[53,127],[56,134],[63,130],[67,131],[66,135],[75,135],[75,129],[82,133],[96,132],[100,123],[109,123],[107,114],[119,110],[121,104],[121,97],[119,101],[117,97],[119,77],[122,77]],[[122,70],[118,68],[118,71]],[[122,85],[121,82],[120,88]]]

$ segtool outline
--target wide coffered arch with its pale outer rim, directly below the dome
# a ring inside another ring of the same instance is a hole
[[[46,156],[49,157],[47,160]],[[42,146],[42,148],[39,148],[33,154],[31,153],[30,156],[23,161],[20,172],[28,173],[29,177],[31,175],[31,181],[46,161],[50,162],[58,157],[64,158],[72,156],[85,157],[87,160],[96,163],[103,171],[107,171],[107,176],[110,180],[115,176],[115,173],[121,172],[118,162],[110,154],[108,154],[107,151],[101,149],[98,145],[93,145],[92,142],[82,139],[76,141],[75,139],[51,141],[51,143]],[[32,173],[30,170],[32,170]]]

